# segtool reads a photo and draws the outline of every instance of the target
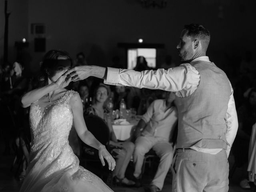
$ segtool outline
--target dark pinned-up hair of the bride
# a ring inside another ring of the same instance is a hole
[[[72,59],[69,56],[68,52],[61,50],[48,51],[44,55],[42,62],[40,62],[40,75],[38,76],[40,86],[45,86],[48,83],[48,72],[56,68],[56,66],[58,65],[59,57],[66,58],[65,61],[70,62],[72,66]]]

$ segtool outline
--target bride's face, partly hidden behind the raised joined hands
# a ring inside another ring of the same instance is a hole
[[[67,60],[66,57],[58,57],[58,64],[54,68],[48,70],[48,79],[51,82],[56,82],[67,70],[71,68],[71,62],[61,62]]]

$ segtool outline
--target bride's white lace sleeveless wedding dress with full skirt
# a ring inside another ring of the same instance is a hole
[[[31,104],[30,163],[20,192],[112,192],[100,178],[79,166],[68,144],[73,94],[67,91],[44,111],[37,102]]]

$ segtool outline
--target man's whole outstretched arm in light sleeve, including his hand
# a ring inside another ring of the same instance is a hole
[[[106,84],[162,89],[173,92],[182,90],[190,79],[190,67],[187,64],[168,70],[158,69],[142,72],[110,67],[78,66],[68,70],[66,73],[71,73],[73,81],[94,76],[104,78],[104,83]]]

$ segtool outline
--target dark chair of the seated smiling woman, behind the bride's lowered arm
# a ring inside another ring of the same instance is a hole
[[[96,115],[87,115],[84,116],[84,120],[87,126],[87,129],[94,135],[94,137],[108,149],[108,143],[110,140],[110,132],[107,124],[102,120],[102,118]],[[86,150],[87,152],[86,152]],[[103,178],[103,170],[104,167],[100,162],[100,158],[98,156],[98,150],[84,144],[80,140],[80,156],[79,156],[80,164],[84,164],[84,167],[87,166],[88,162],[98,162],[101,167],[100,177]],[[107,165],[107,163],[106,163]],[[98,166],[97,166],[98,167]],[[107,167],[107,166],[105,166]]]

